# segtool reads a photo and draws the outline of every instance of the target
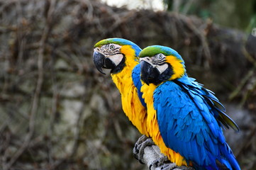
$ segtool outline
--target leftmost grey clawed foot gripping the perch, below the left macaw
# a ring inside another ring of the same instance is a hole
[[[143,154],[145,147],[152,145],[155,145],[155,143],[152,141],[150,137],[147,137],[145,135],[141,136],[135,143],[135,146],[133,147],[133,155],[136,159],[140,161],[141,164],[145,164],[145,162],[143,162]]]

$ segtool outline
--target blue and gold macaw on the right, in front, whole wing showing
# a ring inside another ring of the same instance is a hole
[[[148,132],[161,152],[177,165],[184,157],[195,169],[240,169],[222,131],[238,131],[238,125],[212,91],[187,76],[182,57],[160,45],[146,47],[139,57]]]

